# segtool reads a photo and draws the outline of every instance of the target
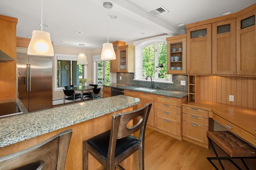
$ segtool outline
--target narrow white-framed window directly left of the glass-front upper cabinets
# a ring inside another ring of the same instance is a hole
[[[94,61],[94,77],[96,84],[102,86],[110,84],[110,61],[103,61],[100,55],[93,57]]]

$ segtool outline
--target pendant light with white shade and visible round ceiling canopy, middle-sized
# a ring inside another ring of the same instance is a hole
[[[103,6],[104,6],[104,8],[112,8],[113,4],[110,2],[104,2]],[[116,54],[115,54],[112,43],[103,43],[101,59],[102,60],[115,60],[116,59]]]

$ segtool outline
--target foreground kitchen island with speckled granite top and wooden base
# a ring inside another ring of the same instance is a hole
[[[0,119],[0,156],[72,129],[66,170],[81,170],[82,141],[110,129],[113,114],[131,111],[132,106],[139,103],[138,98],[119,95]],[[89,160],[89,169],[100,166],[92,157]],[[127,168],[131,164],[131,158],[124,162]]]

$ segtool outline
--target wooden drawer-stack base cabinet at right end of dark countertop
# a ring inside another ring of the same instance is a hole
[[[154,126],[181,137],[181,104],[185,101],[186,98],[154,95]]]

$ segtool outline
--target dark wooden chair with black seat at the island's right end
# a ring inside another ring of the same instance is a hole
[[[88,169],[88,153],[98,160],[107,170],[123,169],[119,164],[138,150],[139,168],[144,170],[144,138],[146,123],[152,104],[140,109],[118,113],[112,116],[111,129],[83,142],[83,168]],[[132,127],[127,124],[135,117],[140,121]],[[139,131],[139,137],[132,136]]]

